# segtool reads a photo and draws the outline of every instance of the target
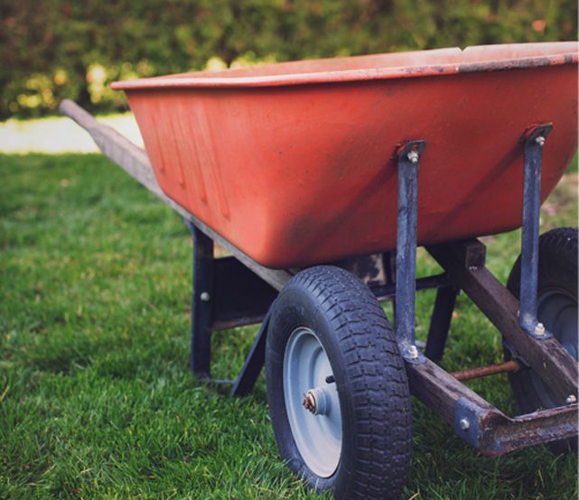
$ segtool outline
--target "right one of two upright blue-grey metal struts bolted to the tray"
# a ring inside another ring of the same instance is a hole
[[[521,238],[520,326],[535,338],[548,333],[537,321],[537,275],[539,208],[541,206],[541,159],[546,136],[553,125],[535,125],[524,134],[523,234]]]

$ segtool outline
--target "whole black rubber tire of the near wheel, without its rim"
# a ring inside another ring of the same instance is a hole
[[[285,409],[283,364],[294,329],[318,336],[341,406],[341,457],[316,476],[296,447]],[[273,305],[266,343],[267,401],[281,457],[307,486],[335,498],[399,498],[412,444],[406,369],[384,311],[369,288],[332,266],[297,273]]]

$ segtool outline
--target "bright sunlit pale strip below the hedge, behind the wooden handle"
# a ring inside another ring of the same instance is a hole
[[[143,146],[131,113],[97,118],[120,134]],[[39,120],[8,120],[0,123],[0,153],[98,153],[90,135],[65,117]]]

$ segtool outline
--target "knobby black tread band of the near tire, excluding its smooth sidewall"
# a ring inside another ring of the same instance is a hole
[[[384,311],[364,283],[332,266],[297,273],[286,288],[311,293],[344,357],[357,446],[351,487],[342,497],[397,498],[410,461],[411,409],[406,368]]]

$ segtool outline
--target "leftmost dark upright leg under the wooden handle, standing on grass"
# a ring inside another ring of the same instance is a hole
[[[191,305],[191,370],[210,378],[213,293],[213,240],[187,224],[193,238],[193,293]]]

